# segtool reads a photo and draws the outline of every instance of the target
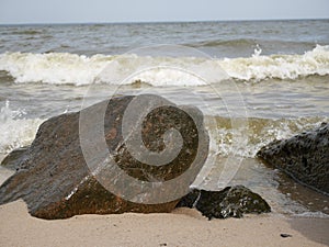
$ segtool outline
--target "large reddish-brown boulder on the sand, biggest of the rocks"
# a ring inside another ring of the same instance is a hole
[[[127,106],[137,97],[113,98],[81,112],[63,114],[44,122],[31,147],[11,161],[15,166],[19,164],[19,170],[1,186],[0,204],[23,199],[30,213],[42,218],[172,211],[179,201],[178,197],[173,197],[174,193],[189,192],[189,186],[207,157],[208,136],[198,110],[178,108],[152,96],[170,105],[149,111],[152,102],[148,97],[141,96],[147,100],[141,109],[149,112],[141,125],[143,142],[155,153],[171,148],[173,144],[166,139],[166,135],[163,137],[163,133],[175,128],[181,133],[182,148],[172,161],[151,166],[133,157],[123,138],[122,123]],[[138,105],[138,102],[134,104]],[[83,114],[87,119],[81,124]],[[100,130],[93,125],[100,122],[98,114],[103,116]],[[129,130],[129,135],[134,136],[135,131],[134,127]],[[103,137],[105,147],[98,143],[98,135]],[[88,159],[90,154],[91,159]],[[113,157],[117,166],[113,166],[107,157]],[[117,173],[113,173],[113,170]],[[121,180],[127,175],[139,187]],[[175,182],[173,178],[183,179]],[[169,183],[171,187],[162,187],[167,181],[173,181]],[[154,190],[144,191],[140,184],[148,183],[152,184]],[[121,188],[122,194],[113,193],[115,188],[111,186]],[[161,193],[154,193],[159,188]],[[154,198],[158,201],[151,201]],[[146,204],[147,200],[154,203]]]

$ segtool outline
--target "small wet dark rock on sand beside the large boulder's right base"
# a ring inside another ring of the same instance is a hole
[[[271,212],[270,205],[259,194],[243,186],[227,187],[222,191],[194,189],[181,199],[177,207],[181,206],[195,207],[209,220]]]

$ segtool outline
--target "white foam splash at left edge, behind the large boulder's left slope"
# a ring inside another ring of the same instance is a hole
[[[0,109],[0,154],[27,146],[35,137],[39,119],[25,119],[24,110],[10,109],[9,101]]]

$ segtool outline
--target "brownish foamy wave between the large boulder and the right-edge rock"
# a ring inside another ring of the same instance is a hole
[[[290,138],[328,122],[329,117],[326,116],[279,120],[249,117],[245,128],[235,130],[229,119],[217,116],[216,126],[208,125],[208,128],[217,132],[217,148],[213,149],[217,149],[218,155],[253,158],[261,147],[275,139]]]

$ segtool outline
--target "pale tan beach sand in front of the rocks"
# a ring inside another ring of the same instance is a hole
[[[11,172],[0,170],[0,183]],[[23,201],[0,206],[0,246],[328,246],[328,218],[276,213],[207,221],[197,211],[32,217]],[[283,238],[281,234],[290,234]]]

